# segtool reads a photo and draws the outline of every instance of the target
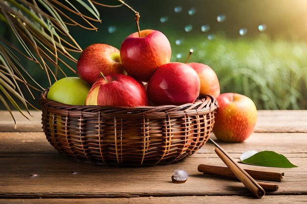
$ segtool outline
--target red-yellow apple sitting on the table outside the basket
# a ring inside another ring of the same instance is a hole
[[[254,131],[257,109],[247,96],[238,93],[222,93],[217,97],[219,104],[213,127],[220,141],[243,142]]]

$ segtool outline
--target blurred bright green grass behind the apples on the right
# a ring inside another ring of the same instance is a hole
[[[227,39],[204,35],[170,38],[172,61],[204,63],[216,72],[221,93],[237,92],[249,96],[257,109],[307,109],[307,43],[257,38]],[[178,58],[180,57],[181,58]]]

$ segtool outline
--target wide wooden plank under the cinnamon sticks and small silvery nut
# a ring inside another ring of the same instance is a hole
[[[251,167],[282,171],[280,189],[268,195],[307,195],[307,158],[292,158],[299,167],[290,169]],[[224,165],[219,158],[190,157],[182,162],[153,167],[105,167],[73,162],[61,155],[33,158],[0,158],[0,197],[134,197],[247,195],[243,184],[229,179],[203,175],[201,163]],[[189,179],[171,182],[177,168],[185,169]],[[71,174],[77,172],[77,174]],[[37,174],[37,177],[30,175]]]

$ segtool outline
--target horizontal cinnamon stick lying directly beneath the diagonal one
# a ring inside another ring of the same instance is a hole
[[[203,172],[205,174],[211,174],[215,176],[221,177],[229,177],[236,178],[236,176],[232,173],[232,171],[228,167],[224,166],[212,166],[206,164],[200,164],[197,167],[199,172]],[[255,180],[263,180],[263,181],[281,181],[282,173],[279,172],[271,172],[271,171],[257,171],[257,170],[249,170],[244,169],[251,177]]]

